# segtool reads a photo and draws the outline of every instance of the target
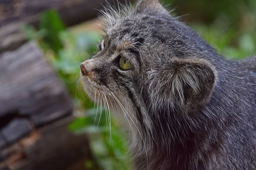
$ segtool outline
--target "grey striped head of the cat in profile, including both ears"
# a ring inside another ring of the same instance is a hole
[[[81,63],[93,100],[118,99],[120,111],[132,110],[129,116],[148,126],[161,111],[189,115],[206,105],[217,79],[217,54],[157,0],[108,8],[102,23],[106,36],[98,53]]]

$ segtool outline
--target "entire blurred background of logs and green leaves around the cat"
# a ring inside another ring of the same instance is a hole
[[[256,0],[161,2],[225,58],[256,54]],[[0,0],[0,170],[132,169],[125,132],[79,82],[105,4]]]

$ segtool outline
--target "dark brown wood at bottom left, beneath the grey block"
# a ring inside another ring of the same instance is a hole
[[[4,158],[2,167],[11,170],[84,170],[85,160],[91,159],[88,140],[86,135],[74,135],[67,130],[72,120],[67,117],[34,130],[0,151]]]

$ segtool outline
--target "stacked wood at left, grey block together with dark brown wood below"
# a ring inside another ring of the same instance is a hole
[[[0,54],[0,170],[84,170],[90,147],[67,129],[72,110],[36,43]]]

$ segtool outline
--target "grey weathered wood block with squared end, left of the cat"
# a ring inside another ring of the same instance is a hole
[[[64,85],[34,42],[0,55],[0,136],[5,142],[14,142],[72,109]]]

